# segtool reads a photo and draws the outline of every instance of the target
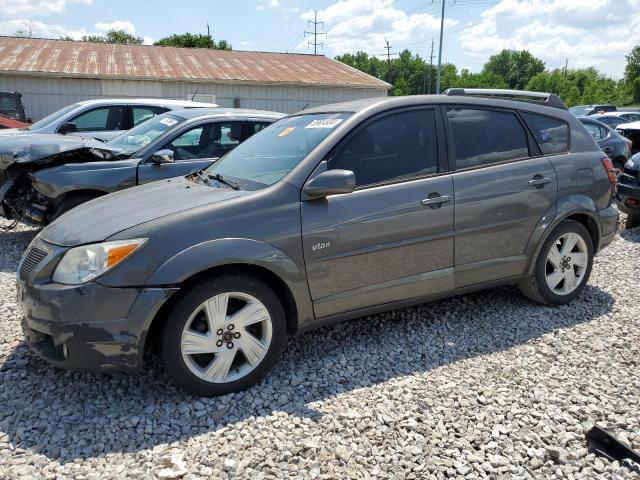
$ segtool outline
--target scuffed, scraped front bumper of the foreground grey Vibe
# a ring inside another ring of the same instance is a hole
[[[56,367],[139,368],[151,322],[176,290],[18,281],[22,329],[31,349]]]

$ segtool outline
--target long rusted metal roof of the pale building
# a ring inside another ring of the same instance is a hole
[[[390,88],[323,55],[0,37],[0,72],[65,77]]]

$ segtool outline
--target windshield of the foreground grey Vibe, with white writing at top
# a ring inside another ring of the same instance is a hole
[[[319,113],[283,118],[237,146],[207,173],[247,180],[257,188],[273,185],[350,115]]]

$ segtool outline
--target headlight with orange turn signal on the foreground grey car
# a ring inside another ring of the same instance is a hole
[[[111,270],[145,243],[146,238],[134,238],[72,248],[53,272],[53,281],[66,285],[88,282]]]

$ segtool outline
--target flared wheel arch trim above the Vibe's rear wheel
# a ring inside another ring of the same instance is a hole
[[[542,249],[542,245],[547,240],[554,228],[566,220],[571,215],[583,214],[587,215],[598,225],[598,233],[601,234],[600,219],[598,217],[598,209],[592,198],[586,195],[570,195],[558,200],[558,202],[542,217],[542,220],[536,226],[536,229],[529,240],[527,247],[529,268],[527,275],[533,273],[536,259]],[[598,248],[593,246],[594,250]]]

